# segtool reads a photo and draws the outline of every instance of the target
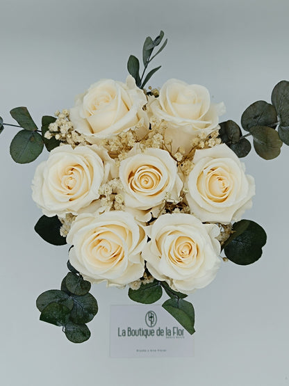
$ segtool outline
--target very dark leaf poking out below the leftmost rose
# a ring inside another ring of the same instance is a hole
[[[42,216],[36,223],[34,230],[47,243],[53,244],[53,246],[64,246],[66,238],[60,235],[60,227],[62,227],[62,223],[57,216]]]

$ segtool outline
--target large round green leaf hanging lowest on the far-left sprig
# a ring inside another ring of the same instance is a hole
[[[10,154],[17,163],[32,162],[43,150],[43,140],[36,131],[21,130],[10,144]]]

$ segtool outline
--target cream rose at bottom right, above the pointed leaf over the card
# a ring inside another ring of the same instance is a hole
[[[151,225],[151,241],[142,256],[157,280],[176,291],[190,293],[208,285],[220,266],[220,233],[190,214],[164,214]]]

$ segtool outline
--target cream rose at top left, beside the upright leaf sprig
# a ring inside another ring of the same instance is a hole
[[[74,129],[94,143],[95,138],[108,138],[138,124],[146,103],[145,93],[131,75],[126,83],[102,79],[77,97],[69,118]]]

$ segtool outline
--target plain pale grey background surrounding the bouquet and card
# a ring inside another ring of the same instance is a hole
[[[258,99],[289,79],[286,0],[1,0],[0,106],[28,106],[36,122],[69,108],[74,96],[101,78],[124,81],[129,54],[140,56],[147,35],[163,29],[167,49],[154,86],[169,78],[206,86],[224,101],[224,119],[240,122]],[[245,159],[256,179],[254,207],[245,218],[265,227],[268,240],[252,266],[222,264],[215,281],[190,296],[196,310],[195,357],[110,359],[110,304],[130,304],[126,291],[94,286],[99,314],[91,339],[69,343],[60,328],[38,321],[35,299],[58,288],[66,247],[44,243],[33,231],[40,210],[31,179],[40,161],[21,166],[1,134],[1,384],[48,385],[289,385],[288,161],[254,152]],[[42,159],[47,158],[44,154]]]

